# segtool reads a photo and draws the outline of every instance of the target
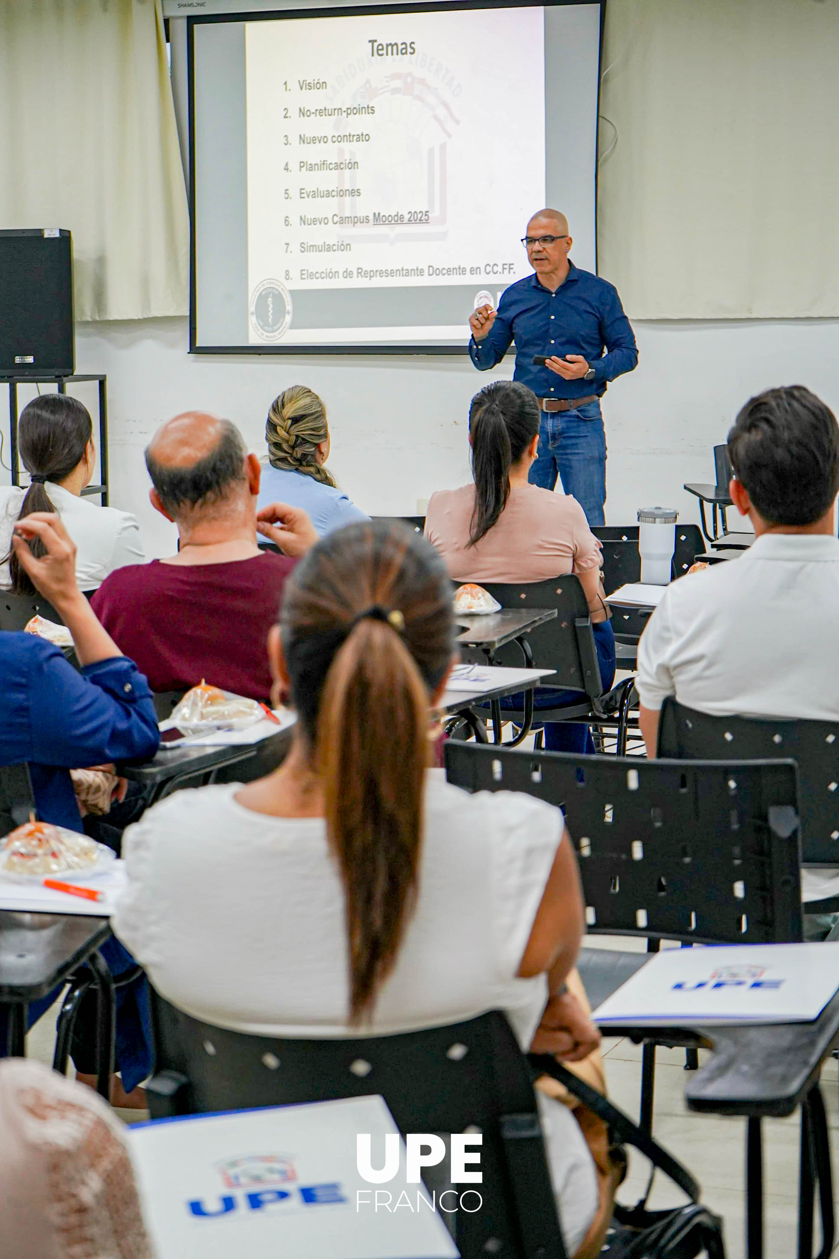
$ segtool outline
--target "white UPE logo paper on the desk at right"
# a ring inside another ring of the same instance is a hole
[[[838,988],[839,943],[668,948],[592,1019],[639,1027],[811,1022]]]

